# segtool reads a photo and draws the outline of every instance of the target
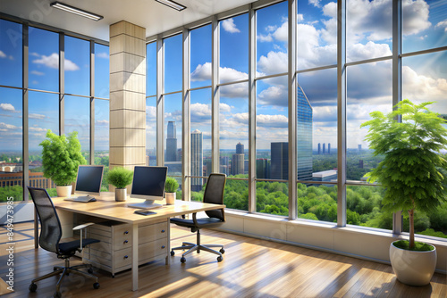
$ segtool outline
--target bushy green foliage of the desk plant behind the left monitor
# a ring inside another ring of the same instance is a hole
[[[51,178],[57,186],[68,186],[76,179],[78,166],[87,161],[80,153],[78,132],[73,131],[68,137],[57,136],[50,129],[46,139],[40,143],[44,177]]]

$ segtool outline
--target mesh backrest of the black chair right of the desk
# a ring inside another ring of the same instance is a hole
[[[226,175],[212,173],[207,180],[207,187],[203,195],[204,203],[223,204],[223,191],[225,190]],[[225,220],[223,209],[205,211],[210,218]]]

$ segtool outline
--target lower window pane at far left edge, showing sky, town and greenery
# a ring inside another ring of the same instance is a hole
[[[0,87],[0,203],[23,200],[22,112],[21,90]]]

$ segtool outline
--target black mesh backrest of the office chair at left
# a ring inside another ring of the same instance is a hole
[[[45,188],[28,187],[28,190],[38,211],[38,219],[40,221],[38,243],[46,251],[59,254],[58,245],[62,237],[62,228],[55,211],[55,205]]]

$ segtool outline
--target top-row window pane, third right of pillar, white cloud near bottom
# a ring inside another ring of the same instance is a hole
[[[211,25],[190,31],[191,88],[211,86]]]

